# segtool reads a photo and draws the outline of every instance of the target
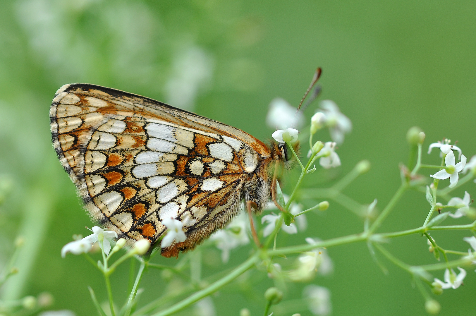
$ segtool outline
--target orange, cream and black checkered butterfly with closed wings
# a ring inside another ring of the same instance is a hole
[[[292,158],[286,144],[92,84],[56,92],[50,127],[60,163],[94,220],[152,245],[166,233],[164,218],[182,222],[187,239],[162,248],[164,257],[226,226],[241,201],[261,211],[274,196],[274,171]]]

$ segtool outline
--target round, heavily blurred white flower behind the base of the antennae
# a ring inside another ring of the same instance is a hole
[[[270,128],[293,128],[300,127],[304,121],[302,112],[297,112],[288,101],[282,98],[275,98],[269,103],[266,124]]]

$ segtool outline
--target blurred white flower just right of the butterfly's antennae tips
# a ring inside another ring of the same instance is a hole
[[[321,111],[326,116],[326,125],[329,128],[330,138],[337,142],[337,144],[342,144],[344,142],[344,134],[352,130],[352,122],[347,116],[340,113],[334,101],[321,101]]]

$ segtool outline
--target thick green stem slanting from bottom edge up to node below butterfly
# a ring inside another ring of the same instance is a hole
[[[253,255],[252,257],[248,258],[245,262],[243,262],[241,265],[236,267],[233,271],[231,271],[227,276],[219,279],[218,281],[210,284],[203,290],[198,291],[197,293],[188,296],[186,299],[178,302],[177,304],[174,304],[170,306],[169,308],[160,311],[159,313],[153,314],[152,316],[168,316],[172,315],[174,313],[177,313],[178,311],[192,305],[193,303],[198,302],[202,298],[215,293],[220,289],[221,287],[227,285],[231,281],[235,280],[237,277],[239,277],[241,274],[243,274],[245,271],[253,267],[255,264],[257,264],[259,261],[259,256],[258,253]]]

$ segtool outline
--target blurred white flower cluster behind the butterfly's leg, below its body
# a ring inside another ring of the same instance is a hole
[[[218,249],[221,250],[221,260],[227,263],[230,250],[249,243],[247,230],[249,220],[245,213],[235,217],[225,229],[218,230],[210,237]]]

